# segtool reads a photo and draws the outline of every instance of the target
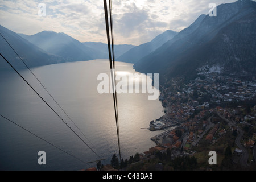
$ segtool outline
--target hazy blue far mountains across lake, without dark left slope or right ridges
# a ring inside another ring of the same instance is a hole
[[[53,55],[65,57],[67,61],[86,61],[93,59],[108,59],[108,44],[84,42],[64,33],[42,31],[35,35],[19,34],[30,43]],[[133,45],[115,45],[115,55],[129,51]]]

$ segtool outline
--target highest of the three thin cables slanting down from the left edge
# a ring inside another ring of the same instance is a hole
[[[59,103],[55,100],[55,98],[53,98],[53,96],[48,92],[48,90],[44,87],[44,85],[42,84],[42,82],[39,81],[38,77],[35,76],[35,74],[31,71],[31,69],[28,67],[28,65],[23,61],[23,59],[18,55],[18,53],[14,50],[14,48],[11,46],[11,44],[5,39],[5,37],[1,34],[2,38],[5,40],[5,42],[11,47],[11,49],[13,49],[13,51],[16,53],[16,55],[19,57],[19,59],[22,61],[22,63],[27,67],[27,69],[32,73],[32,75],[36,78],[36,80],[38,80],[39,84],[43,86],[44,90],[46,90],[46,92],[49,94],[49,96],[51,96],[52,100],[55,101],[55,103],[60,107],[60,109],[65,113],[65,115],[67,115],[67,117],[70,119],[70,121],[76,126],[76,128],[81,132],[82,135],[85,134],[82,133],[82,131],[79,129],[79,127],[75,124],[75,122],[73,122],[73,120],[69,117],[69,115],[64,111],[64,109],[59,105]],[[85,137],[86,140],[88,140],[88,142],[94,147],[94,145],[92,144],[92,142],[90,142],[90,140]],[[96,149],[96,147],[94,147]],[[104,161],[105,163],[105,161]],[[106,163],[105,163],[106,164]]]

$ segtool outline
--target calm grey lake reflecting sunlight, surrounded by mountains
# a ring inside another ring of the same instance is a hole
[[[85,135],[57,106],[38,81],[27,70],[20,74],[49,105],[101,158],[110,163],[118,154],[112,94],[100,94],[100,73],[109,74],[108,60],[81,61],[32,68],[49,93]],[[135,73],[133,64],[116,62],[117,73]],[[0,114],[47,140],[73,158],[34,135],[0,117],[1,170],[81,170],[96,167],[98,156],[84,144],[14,71],[0,73]],[[118,94],[121,156],[129,159],[155,146],[151,137],[162,131],[149,131],[150,121],[164,113],[159,100],[148,100],[148,94]],[[46,152],[46,165],[38,164],[38,152]]]

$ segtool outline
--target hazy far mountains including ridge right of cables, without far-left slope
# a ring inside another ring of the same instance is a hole
[[[148,55],[163,43],[172,39],[177,32],[167,30],[156,36],[151,42],[133,46],[133,45],[114,45],[115,57],[117,61],[135,63],[142,57]],[[35,35],[19,34],[30,43],[35,44],[44,51],[53,55],[65,57],[65,61],[81,61],[93,59],[108,59],[108,44],[100,42],[84,42],[68,36],[64,33],[53,31],[42,31]]]

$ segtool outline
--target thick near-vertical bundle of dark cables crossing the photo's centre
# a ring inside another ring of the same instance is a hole
[[[117,126],[117,139],[118,139],[118,149],[119,149],[119,157],[121,161],[121,148],[120,148],[120,139],[119,139],[119,125],[118,125],[118,112],[117,112],[117,97],[116,97],[116,90],[115,90],[115,76],[113,76],[113,65],[112,65],[112,53],[111,53],[111,47],[110,47],[110,35],[109,35],[109,18],[108,18],[108,6],[106,0],[104,0],[104,10],[105,10],[105,22],[106,22],[106,34],[108,39],[108,49],[109,49],[109,64],[110,64],[110,70],[111,70],[111,78],[113,81],[113,101],[114,101],[114,109],[115,109],[115,123]],[[111,16],[111,6],[110,6],[110,22],[112,23],[112,16]],[[111,26],[112,27],[112,26]],[[113,31],[112,31],[113,34]],[[113,43],[113,37],[112,37],[112,43]],[[112,44],[112,52],[114,52],[113,44]],[[113,55],[114,58],[114,55]],[[114,70],[115,74],[115,70]],[[114,78],[114,79],[113,79]]]

